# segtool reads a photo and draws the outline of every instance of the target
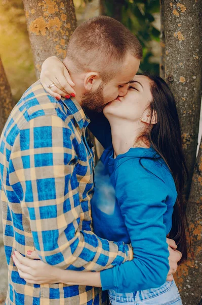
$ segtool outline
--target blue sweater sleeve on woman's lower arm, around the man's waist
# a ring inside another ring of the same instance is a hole
[[[120,293],[157,288],[166,282],[169,271],[163,221],[168,189],[138,159],[122,163],[116,169],[115,179],[116,198],[130,235],[134,259],[101,271],[102,288]]]

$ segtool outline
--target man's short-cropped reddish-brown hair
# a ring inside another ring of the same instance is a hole
[[[99,16],[75,29],[67,47],[67,58],[76,72],[95,71],[109,80],[121,68],[128,52],[142,58],[139,40],[122,23]]]

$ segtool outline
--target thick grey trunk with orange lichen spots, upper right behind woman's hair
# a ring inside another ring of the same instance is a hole
[[[202,22],[201,1],[162,0],[165,32],[165,69],[161,75],[170,85],[180,116],[189,180],[195,163],[201,102]],[[163,35],[164,37],[164,35]],[[163,41],[164,43],[164,41]]]

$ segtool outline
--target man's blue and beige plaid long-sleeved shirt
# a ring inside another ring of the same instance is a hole
[[[94,191],[90,120],[76,100],[51,97],[37,81],[14,107],[0,140],[1,203],[9,268],[6,304],[95,305],[101,289],[65,284],[31,285],[11,255],[36,250],[62,269],[99,271],[132,259],[123,242],[93,233]]]

